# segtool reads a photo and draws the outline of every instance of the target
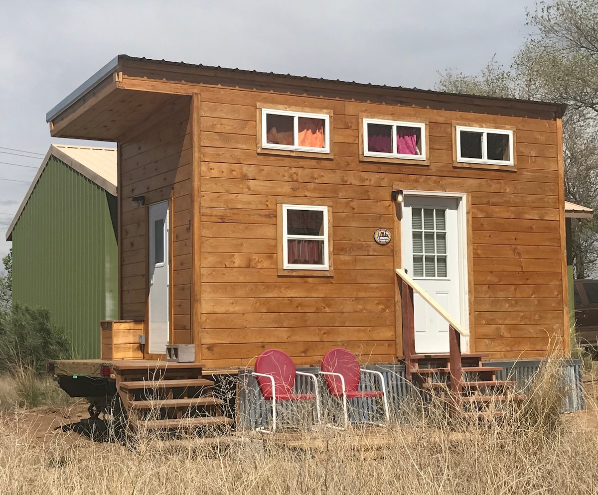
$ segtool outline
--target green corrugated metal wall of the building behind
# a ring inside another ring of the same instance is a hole
[[[13,229],[13,301],[47,307],[81,359],[118,318],[115,225],[116,198],[51,156]]]

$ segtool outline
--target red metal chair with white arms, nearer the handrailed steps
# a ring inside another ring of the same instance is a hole
[[[328,390],[333,397],[343,399],[344,427],[349,426],[348,399],[382,398],[386,422],[390,420],[386,384],[380,371],[360,368],[357,358],[346,349],[329,350],[322,359],[321,373],[326,378]],[[380,390],[359,390],[361,374],[376,375],[380,380]]]

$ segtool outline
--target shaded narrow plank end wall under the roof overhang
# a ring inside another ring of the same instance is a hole
[[[142,319],[148,295],[147,206],[171,199],[173,343],[190,344],[191,283],[191,123],[190,97],[177,96],[158,108],[154,117],[124,137],[121,143],[120,270],[121,318]],[[135,134],[135,136],[133,136]],[[132,197],[145,196],[145,207],[134,209]]]

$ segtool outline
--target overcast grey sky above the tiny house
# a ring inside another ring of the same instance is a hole
[[[4,233],[41,158],[51,143],[72,143],[51,139],[47,111],[117,54],[429,89],[447,67],[477,73],[494,54],[508,65],[528,32],[526,5],[533,4],[2,2],[0,257],[10,247]]]

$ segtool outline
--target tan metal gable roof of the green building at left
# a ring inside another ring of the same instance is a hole
[[[81,175],[87,177],[91,182],[99,185],[103,190],[108,191],[113,196],[117,195],[117,150],[116,148],[100,148],[99,146],[70,146],[70,145],[50,145],[50,149],[45,154],[41,162],[39,170],[35,174],[27,194],[16,215],[14,215],[13,222],[6,231],[6,239],[11,240],[13,228],[19,221],[19,217],[25,209],[27,201],[32,194],[35,186],[44,172],[45,166],[48,164],[50,157],[56,157],[63,163],[67,164],[74,170],[77,170]]]

